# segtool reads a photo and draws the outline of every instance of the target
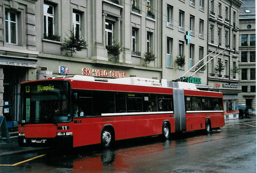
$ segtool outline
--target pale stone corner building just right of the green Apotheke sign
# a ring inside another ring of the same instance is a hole
[[[222,52],[208,64],[208,85],[223,92],[225,119],[238,118],[239,74],[233,72],[239,61],[240,0],[209,0],[208,52],[217,49],[209,59]]]

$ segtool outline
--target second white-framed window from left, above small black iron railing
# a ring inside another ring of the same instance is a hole
[[[54,34],[54,7],[44,4],[44,32]]]

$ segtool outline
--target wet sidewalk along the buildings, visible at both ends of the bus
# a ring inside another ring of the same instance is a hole
[[[242,124],[249,122],[256,122],[256,116],[250,116],[251,118],[244,119],[229,119],[225,120],[225,126],[233,124]],[[43,149],[49,149],[49,147],[19,147],[18,138],[12,138],[11,144],[9,141],[0,141],[0,156],[10,155],[10,154],[19,154],[25,152],[36,152]]]

